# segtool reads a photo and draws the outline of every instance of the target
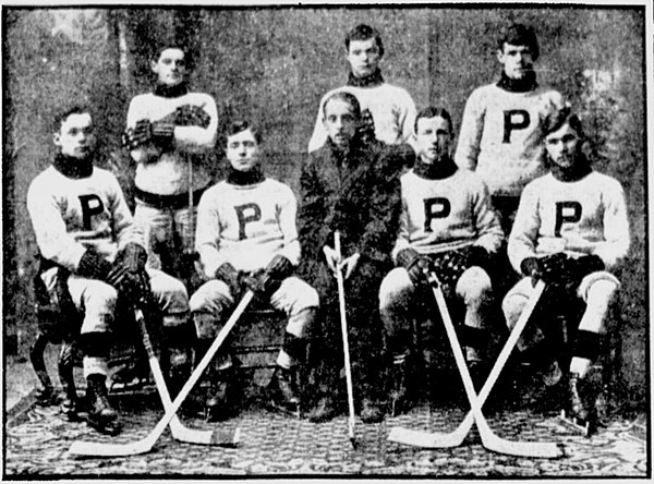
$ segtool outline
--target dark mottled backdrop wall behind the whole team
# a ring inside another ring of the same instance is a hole
[[[154,39],[183,38],[197,57],[192,84],[210,93],[221,119],[263,125],[269,173],[298,186],[320,96],[347,78],[343,37],[358,23],[386,44],[383,73],[419,109],[447,107],[459,125],[471,90],[499,73],[495,38],[507,21],[536,28],[538,80],[583,116],[595,167],[623,184],[633,242],[623,282],[625,404],[646,401],[649,338],[645,198],[644,8],[4,8],[4,349],[24,353],[34,334],[31,278],[36,245],[25,208],[31,180],[51,155],[55,112],[96,109],[101,150],[130,195],[133,167],[120,148],[129,100],[150,86]],[[217,172],[220,157],[216,156]]]

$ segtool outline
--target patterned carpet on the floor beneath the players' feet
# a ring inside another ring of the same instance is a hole
[[[118,459],[73,458],[77,440],[129,443],[142,438],[162,416],[156,400],[144,397],[119,403],[124,429],[117,437],[95,433],[84,423],[69,423],[56,407],[23,402],[5,422],[4,477],[117,476],[434,476],[434,477],[647,477],[651,476],[646,425],[614,419],[592,438],[581,436],[552,413],[511,410],[488,413],[497,435],[513,440],[561,443],[559,459],[518,458],[486,450],[473,429],[460,447],[422,449],[387,440],[393,426],[451,432],[465,410],[424,404],[380,424],[358,421],[359,446],[347,436],[347,418],[313,424],[267,412],[256,406],[221,424],[184,419],[187,426],[241,429],[237,448],[179,443],[166,432],[152,452]]]

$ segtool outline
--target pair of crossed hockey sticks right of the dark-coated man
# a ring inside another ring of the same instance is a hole
[[[482,407],[488,398],[493,386],[497,382],[501,370],[504,368],[507,360],[513,351],[513,348],[516,347],[516,343],[518,342],[518,338],[520,337],[522,330],[524,329],[524,326],[526,325],[529,318],[531,317],[534,311],[534,307],[541,299],[541,295],[543,294],[543,291],[545,289],[545,283],[543,281],[538,281],[536,283],[534,293],[530,298],[526,306],[520,315],[520,318],[518,319],[516,326],[511,330],[511,334],[509,335],[509,338],[507,339],[502,350],[500,351],[497,361],[495,362],[495,365],[493,366],[493,370],[491,371],[491,374],[486,379],[486,383],[482,387],[480,394],[476,395],[474,390],[474,385],[472,383],[472,378],[470,376],[470,371],[468,370],[468,365],[465,364],[465,359],[463,356],[461,346],[459,344],[455,326],[452,324],[449,311],[447,308],[445,297],[443,295],[443,290],[440,289],[438,278],[435,274],[429,275],[429,282],[433,287],[434,297],[436,298],[436,303],[440,311],[440,315],[445,325],[450,346],[452,347],[452,352],[455,354],[455,360],[457,362],[459,373],[461,374],[461,378],[463,379],[463,387],[465,389],[465,395],[468,397],[471,410],[463,420],[463,422],[461,422],[461,424],[449,434],[438,432],[428,433],[424,431],[412,431],[408,428],[393,427],[388,436],[388,439],[400,444],[417,447],[457,447],[463,443],[465,436],[472,428],[472,424],[476,423],[477,428],[480,431],[480,437],[482,438],[482,444],[488,450],[518,457],[562,457],[562,448],[556,443],[511,441],[497,436],[495,433],[493,433],[493,429],[488,426],[488,423],[486,422],[486,419],[482,413]]]

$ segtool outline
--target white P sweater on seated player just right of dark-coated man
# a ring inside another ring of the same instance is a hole
[[[475,174],[467,170],[441,180],[426,180],[413,171],[402,176],[403,210],[412,246],[421,253],[435,253],[474,240],[476,184]]]

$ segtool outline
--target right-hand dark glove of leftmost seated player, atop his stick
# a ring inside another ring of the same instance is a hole
[[[149,297],[149,278],[145,273],[147,252],[136,243],[126,244],[116,256],[107,282],[120,297],[131,302]]]

